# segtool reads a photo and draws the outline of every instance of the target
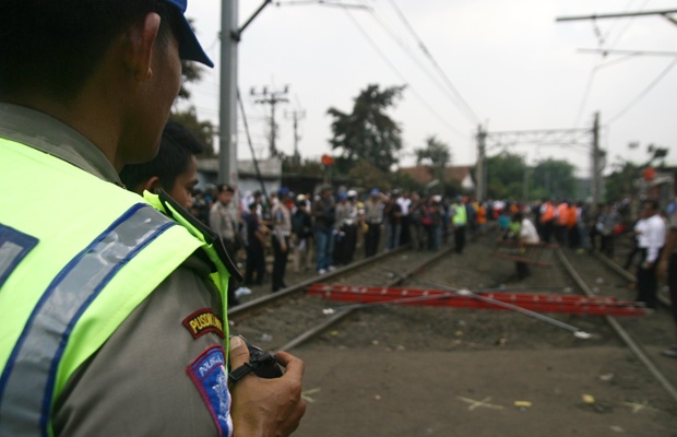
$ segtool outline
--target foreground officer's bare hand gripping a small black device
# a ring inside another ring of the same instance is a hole
[[[263,379],[251,373],[230,387],[230,414],[238,436],[288,436],[298,427],[306,412],[306,402],[301,399],[304,362],[286,352],[277,352],[275,356],[285,368],[282,377]],[[247,362],[247,344],[239,336],[233,336],[230,368],[236,369]]]

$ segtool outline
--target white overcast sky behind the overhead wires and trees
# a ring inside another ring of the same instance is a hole
[[[489,132],[583,129],[592,127],[595,111],[603,127],[601,145],[609,156],[607,170],[619,160],[644,162],[651,143],[669,147],[668,163],[677,163],[677,56],[603,58],[579,51],[676,52],[677,25],[662,16],[555,21],[675,10],[675,0],[341,1],[370,10],[273,3],[245,31],[238,82],[257,157],[269,154],[270,106],[254,103],[252,87],[280,91],[288,85],[289,103],[276,110],[277,146],[293,152],[293,122],[285,111],[302,110],[299,151],[304,157],[319,157],[331,153],[326,110],[333,106],[349,113],[360,90],[379,84],[406,85],[403,98],[389,110],[402,128],[404,165],[413,163],[414,150],[429,135],[450,146],[452,164],[473,164],[479,122]],[[240,0],[239,22],[262,3]],[[221,0],[190,0],[187,16],[216,63],[191,87],[192,103],[199,117],[217,123]],[[250,158],[241,115],[238,132],[238,158]],[[631,142],[640,146],[631,150]],[[570,161],[580,174],[590,169],[585,147],[528,144],[507,150],[530,164],[555,157]]]

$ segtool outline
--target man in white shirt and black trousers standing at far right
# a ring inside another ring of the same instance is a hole
[[[658,288],[656,264],[665,245],[665,222],[658,214],[658,202],[655,200],[645,200],[642,212],[646,220],[642,226],[640,245],[645,247],[640,246],[642,262],[637,270],[636,300],[645,303],[648,308],[656,308]]]

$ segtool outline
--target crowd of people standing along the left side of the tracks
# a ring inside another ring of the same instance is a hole
[[[241,292],[262,285],[269,276],[272,292],[286,287],[289,260],[295,273],[314,269],[324,274],[357,256],[369,258],[405,244],[439,250],[452,235],[456,252],[462,253],[466,232],[471,238],[486,232],[485,206],[461,196],[443,199],[378,188],[360,193],[322,185],[314,194],[282,187],[268,198],[260,191],[245,192],[235,202],[236,191],[226,184],[194,190],[189,208],[241,261],[245,288],[231,287]],[[268,269],[265,259],[271,255]],[[230,305],[237,304],[233,296]]]

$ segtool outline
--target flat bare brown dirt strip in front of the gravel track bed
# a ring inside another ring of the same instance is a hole
[[[677,436],[676,405],[621,349],[295,352],[298,437]]]

